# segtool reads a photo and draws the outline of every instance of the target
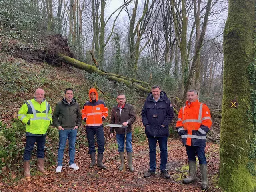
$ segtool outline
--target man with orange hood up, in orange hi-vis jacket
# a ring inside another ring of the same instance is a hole
[[[105,138],[102,122],[108,116],[108,108],[102,100],[98,100],[98,92],[95,88],[91,88],[89,90],[89,98],[90,101],[87,101],[82,109],[82,120],[86,122],[86,133],[91,158],[89,168],[92,168],[95,165],[96,150],[94,136],[96,135],[98,143],[97,165],[102,169],[106,169],[106,166],[102,162],[105,150]]]

